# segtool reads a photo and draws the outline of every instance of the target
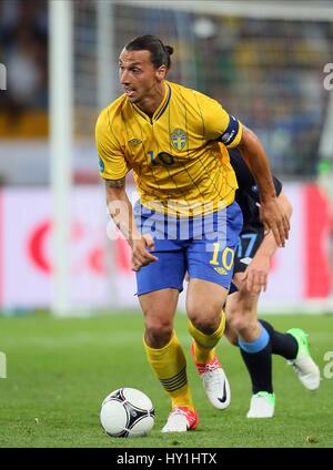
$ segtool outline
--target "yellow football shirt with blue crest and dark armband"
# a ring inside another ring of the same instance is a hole
[[[198,91],[164,85],[152,117],[125,95],[100,113],[101,176],[120,180],[133,170],[141,203],[169,215],[208,214],[231,204],[238,183],[225,145],[239,144],[241,123]]]

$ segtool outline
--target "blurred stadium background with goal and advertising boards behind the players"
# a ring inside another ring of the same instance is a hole
[[[2,314],[138,308],[128,246],[107,236],[93,133],[121,92],[118,54],[143,33],[175,48],[170,80],[258,133],[285,184],[292,235],[262,309],[332,313],[332,1],[0,0]]]

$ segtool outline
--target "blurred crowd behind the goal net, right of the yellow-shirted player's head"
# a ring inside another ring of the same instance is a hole
[[[218,99],[262,140],[275,173],[316,174],[333,23],[196,16],[119,6],[119,49],[149,30],[175,45],[171,78]],[[128,28],[127,28],[128,25]]]

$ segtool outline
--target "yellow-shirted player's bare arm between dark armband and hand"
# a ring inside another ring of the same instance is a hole
[[[258,136],[244,125],[239,150],[258,183],[260,200],[265,202],[275,198],[276,193],[265,151]]]

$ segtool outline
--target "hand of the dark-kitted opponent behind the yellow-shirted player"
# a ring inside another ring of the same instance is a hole
[[[245,289],[251,294],[260,294],[268,288],[271,258],[268,255],[255,255],[242,278]]]

